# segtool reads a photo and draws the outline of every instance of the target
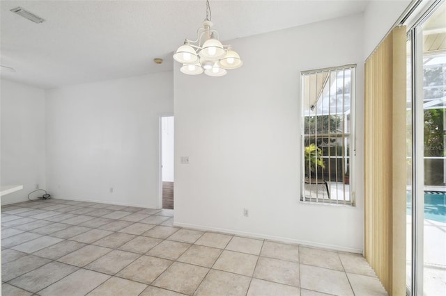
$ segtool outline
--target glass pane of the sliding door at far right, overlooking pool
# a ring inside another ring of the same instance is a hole
[[[422,24],[423,293],[446,289],[446,4]],[[420,197],[418,197],[420,198]]]

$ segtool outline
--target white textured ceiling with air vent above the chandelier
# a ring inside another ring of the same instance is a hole
[[[210,0],[210,8],[220,40],[232,40],[360,13],[368,2]],[[11,13],[17,6],[45,22]],[[0,65],[16,70],[1,78],[46,89],[171,71],[173,51],[196,38],[206,1],[1,0],[0,10]]]

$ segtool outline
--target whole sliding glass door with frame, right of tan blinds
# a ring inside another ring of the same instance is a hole
[[[408,295],[445,295],[446,3],[408,32]]]

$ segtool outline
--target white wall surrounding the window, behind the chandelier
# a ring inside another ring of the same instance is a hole
[[[363,18],[232,40],[243,67],[174,71],[175,223],[307,245],[363,248]],[[300,72],[357,63],[357,205],[300,197]],[[190,164],[180,164],[190,156]],[[243,217],[243,208],[249,217]]]

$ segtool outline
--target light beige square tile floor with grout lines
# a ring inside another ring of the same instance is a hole
[[[360,255],[173,226],[172,210],[1,207],[3,295],[387,295]]]

